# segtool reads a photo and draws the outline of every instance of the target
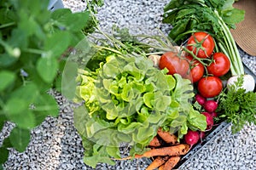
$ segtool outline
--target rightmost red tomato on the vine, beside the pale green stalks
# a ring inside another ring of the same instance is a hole
[[[230,71],[230,59],[225,54],[215,53],[213,59],[212,64],[207,66],[208,73],[215,77],[221,77]]]

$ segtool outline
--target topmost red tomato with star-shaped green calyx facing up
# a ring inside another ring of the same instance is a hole
[[[212,36],[207,32],[195,32],[189,37],[187,48],[197,57],[206,59],[211,56],[215,47]]]

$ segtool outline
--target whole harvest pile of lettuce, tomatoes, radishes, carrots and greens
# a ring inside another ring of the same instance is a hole
[[[227,119],[241,129],[245,123],[254,122],[255,82],[251,89],[242,87],[246,76],[241,59],[221,18],[223,15],[217,10],[218,5],[224,7],[230,3],[209,2],[213,1],[195,1],[189,5],[172,1],[166,6],[173,9],[166,16],[174,25],[171,37],[173,31],[181,29],[175,24],[182,17],[174,19],[174,15],[188,6],[206,10],[221,24],[216,29],[215,25],[191,31],[192,27],[185,27],[174,38],[178,42],[189,35],[188,42],[180,47],[173,46],[163,36],[134,37],[116,27],[111,35],[99,27],[96,31],[100,37],[89,35],[92,52],[84,54],[85,58],[90,57],[80,66],[77,77],[76,100],[84,105],[74,114],[87,165],[96,167],[99,162],[113,165],[115,160],[148,157],[154,160],[148,169],[172,169],[216,123]],[[219,32],[228,36],[221,39]],[[235,80],[225,87],[223,81],[231,76],[240,82]],[[232,106],[236,102],[230,101],[234,96],[239,96],[242,105],[249,96],[248,108],[234,111]],[[127,147],[129,156],[123,157],[120,147]]]

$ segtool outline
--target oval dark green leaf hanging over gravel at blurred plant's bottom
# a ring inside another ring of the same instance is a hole
[[[14,148],[20,152],[26,150],[30,141],[30,131],[27,129],[15,127],[9,134],[9,139]]]

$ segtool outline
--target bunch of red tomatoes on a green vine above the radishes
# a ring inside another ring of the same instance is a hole
[[[219,77],[230,71],[230,59],[221,52],[213,52],[215,43],[210,34],[195,32],[189,37],[182,52],[166,52],[160,57],[160,69],[167,68],[168,74],[180,74],[196,84],[198,92],[205,98],[220,94],[223,89]]]

